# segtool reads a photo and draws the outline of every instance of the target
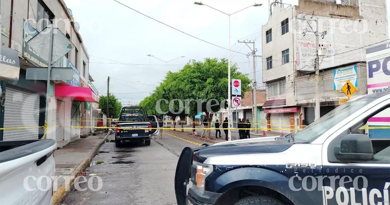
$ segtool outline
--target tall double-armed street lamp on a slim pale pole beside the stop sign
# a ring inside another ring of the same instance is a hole
[[[213,7],[211,7],[211,6],[209,6],[209,5],[206,5],[206,4],[203,4],[202,2],[194,2],[194,4],[196,4],[196,5],[205,5],[205,6],[207,6],[207,7],[210,7],[211,9],[214,9],[214,10],[216,10],[216,11],[219,11],[219,12],[221,12],[221,13],[223,13],[223,14],[225,14],[225,15],[227,15],[227,16],[229,16],[229,59],[228,59],[228,65],[227,65],[227,67],[228,67],[228,73],[227,73],[227,75],[228,75],[228,86],[227,86],[227,90],[228,90],[228,96],[227,96],[227,98],[228,98],[228,101],[227,101],[227,113],[228,113],[228,121],[229,121],[229,125],[230,125],[230,127],[231,127],[231,123],[232,123],[232,111],[231,111],[231,91],[230,91],[230,16],[231,15],[233,15],[233,14],[235,14],[235,13],[238,13],[238,12],[240,12],[240,11],[243,11],[244,9],[248,9],[249,7],[252,7],[252,6],[261,6],[262,4],[253,4],[253,5],[250,5],[250,6],[248,6],[248,7],[245,7],[245,8],[243,8],[243,9],[241,9],[241,10],[239,10],[239,11],[236,11],[236,12],[234,12],[234,13],[229,13],[229,14],[227,14],[227,13],[225,13],[225,12],[223,12],[223,11],[220,11],[220,10],[218,10],[218,9],[216,9],[216,8],[213,8]],[[238,118],[238,116],[236,116],[236,118]],[[228,140],[230,141],[231,139],[232,139],[232,132],[231,132],[231,130],[228,130],[228,134],[227,134],[227,138],[228,138]]]

